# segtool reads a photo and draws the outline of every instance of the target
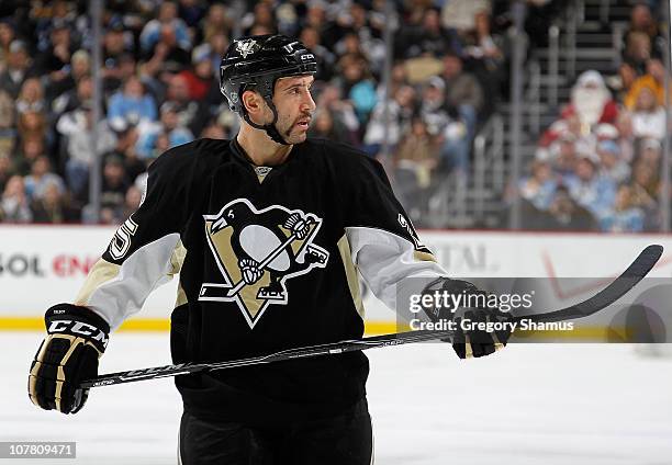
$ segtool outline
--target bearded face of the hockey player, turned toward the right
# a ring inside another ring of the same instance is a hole
[[[284,140],[299,144],[305,140],[315,101],[311,95],[312,76],[279,79],[276,83],[273,104],[278,111],[276,127]]]

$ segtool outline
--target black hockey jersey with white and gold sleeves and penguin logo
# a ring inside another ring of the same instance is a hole
[[[318,139],[293,146],[276,167],[255,167],[236,140],[168,150],[76,304],[114,329],[178,272],[175,363],[360,338],[357,272],[392,308],[410,277],[445,275],[380,163]],[[268,424],[347,408],[365,396],[368,370],[357,352],[182,375],[176,384],[195,416]]]

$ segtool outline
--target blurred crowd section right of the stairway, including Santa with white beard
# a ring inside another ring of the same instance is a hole
[[[661,226],[665,68],[651,5],[636,3],[615,76],[579,76],[519,181],[523,227],[638,232]]]

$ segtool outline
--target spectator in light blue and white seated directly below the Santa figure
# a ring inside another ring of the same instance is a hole
[[[591,151],[579,154],[574,174],[564,177],[563,183],[576,203],[595,217],[614,204],[616,183],[598,172],[600,158]]]

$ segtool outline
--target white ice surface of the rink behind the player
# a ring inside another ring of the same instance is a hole
[[[0,441],[77,441],[78,457],[0,463],[177,462],[172,379],[94,388],[76,416],[43,411],[26,394],[41,339],[0,332]],[[166,364],[168,350],[167,333],[113,334],[101,372]],[[516,344],[471,361],[437,343],[367,353],[378,465],[672,464],[672,359],[623,344]]]

